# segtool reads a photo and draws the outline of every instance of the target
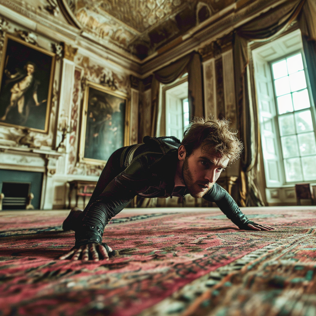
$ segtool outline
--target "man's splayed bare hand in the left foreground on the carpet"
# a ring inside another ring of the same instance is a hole
[[[106,251],[106,247],[108,248],[108,251]],[[64,260],[66,258],[69,258],[71,260],[79,260],[79,258],[81,257],[81,260],[87,261],[89,260],[90,254],[93,261],[99,261],[101,259],[99,255],[100,252],[100,254],[103,256],[103,259],[109,260],[108,252],[112,252],[112,248],[109,246],[106,247],[96,243],[83,245],[80,248],[70,250],[70,252],[67,252],[63,256],[59,257],[59,259]]]

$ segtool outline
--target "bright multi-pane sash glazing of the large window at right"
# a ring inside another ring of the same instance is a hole
[[[271,63],[286,182],[316,180],[315,117],[302,55]]]

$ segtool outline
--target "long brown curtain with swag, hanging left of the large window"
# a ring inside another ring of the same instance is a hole
[[[296,19],[304,3],[304,0],[286,1],[234,32],[233,49],[238,130],[240,139],[244,144],[240,166],[241,206],[264,205],[257,183],[260,135],[258,108],[255,99],[252,100],[250,91],[250,50],[248,42],[273,39]]]

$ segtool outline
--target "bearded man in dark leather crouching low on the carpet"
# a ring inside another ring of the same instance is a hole
[[[235,161],[242,145],[226,120],[195,119],[182,142],[175,137],[144,137],[144,143],[116,150],[102,171],[93,195],[82,212],[73,210],[63,224],[75,230],[75,247],[61,256],[83,260],[108,259],[112,249],[102,244],[107,222],[136,195],[141,197],[204,197],[215,202],[240,229],[272,230],[251,222],[216,180]]]

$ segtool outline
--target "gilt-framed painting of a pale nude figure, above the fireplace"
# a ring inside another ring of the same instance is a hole
[[[48,132],[55,54],[6,34],[0,64],[0,124]]]

